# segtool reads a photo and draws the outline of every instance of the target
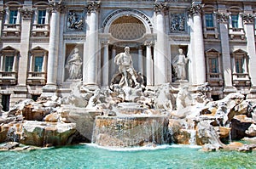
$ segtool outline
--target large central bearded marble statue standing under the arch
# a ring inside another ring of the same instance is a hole
[[[125,47],[125,52],[115,56],[114,63],[119,65],[119,72],[122,74],[119,82],[119,87],[132,87],[132,82],[135,86],[138,86],[137,72],[132,66],[132,59],[130,54],[130,48]]]

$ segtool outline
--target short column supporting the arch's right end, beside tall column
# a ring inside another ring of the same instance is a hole
[[[153,59],[151,46],[152,42],[145,42],[146,45],[146,77],[147,77],[147,86],[153,86]]]

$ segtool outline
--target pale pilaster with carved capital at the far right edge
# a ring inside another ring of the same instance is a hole
[[[255,39],[254,39],[254,26],[253,21],[255,20],[253,14],[244,14],[243,23],[244,31],[247,36],[247,52],[248,52],[248,68],[249,76],[251,77],[251,92],[256,93],[256,48],[255,48]]]

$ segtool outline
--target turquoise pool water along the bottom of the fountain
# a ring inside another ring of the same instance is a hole
[[[202,152],[198,148],[161,146],[109,150],[90,144],[0,152],[0,168],[256,168],[256,152]]]

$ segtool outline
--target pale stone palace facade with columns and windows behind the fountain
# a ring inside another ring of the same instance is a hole
[[[212,99],[256,98],[255,13],[253,0],[0,0],[3,110],[73,82],[108,87],[125,46],[148,87],[208,82]]]

